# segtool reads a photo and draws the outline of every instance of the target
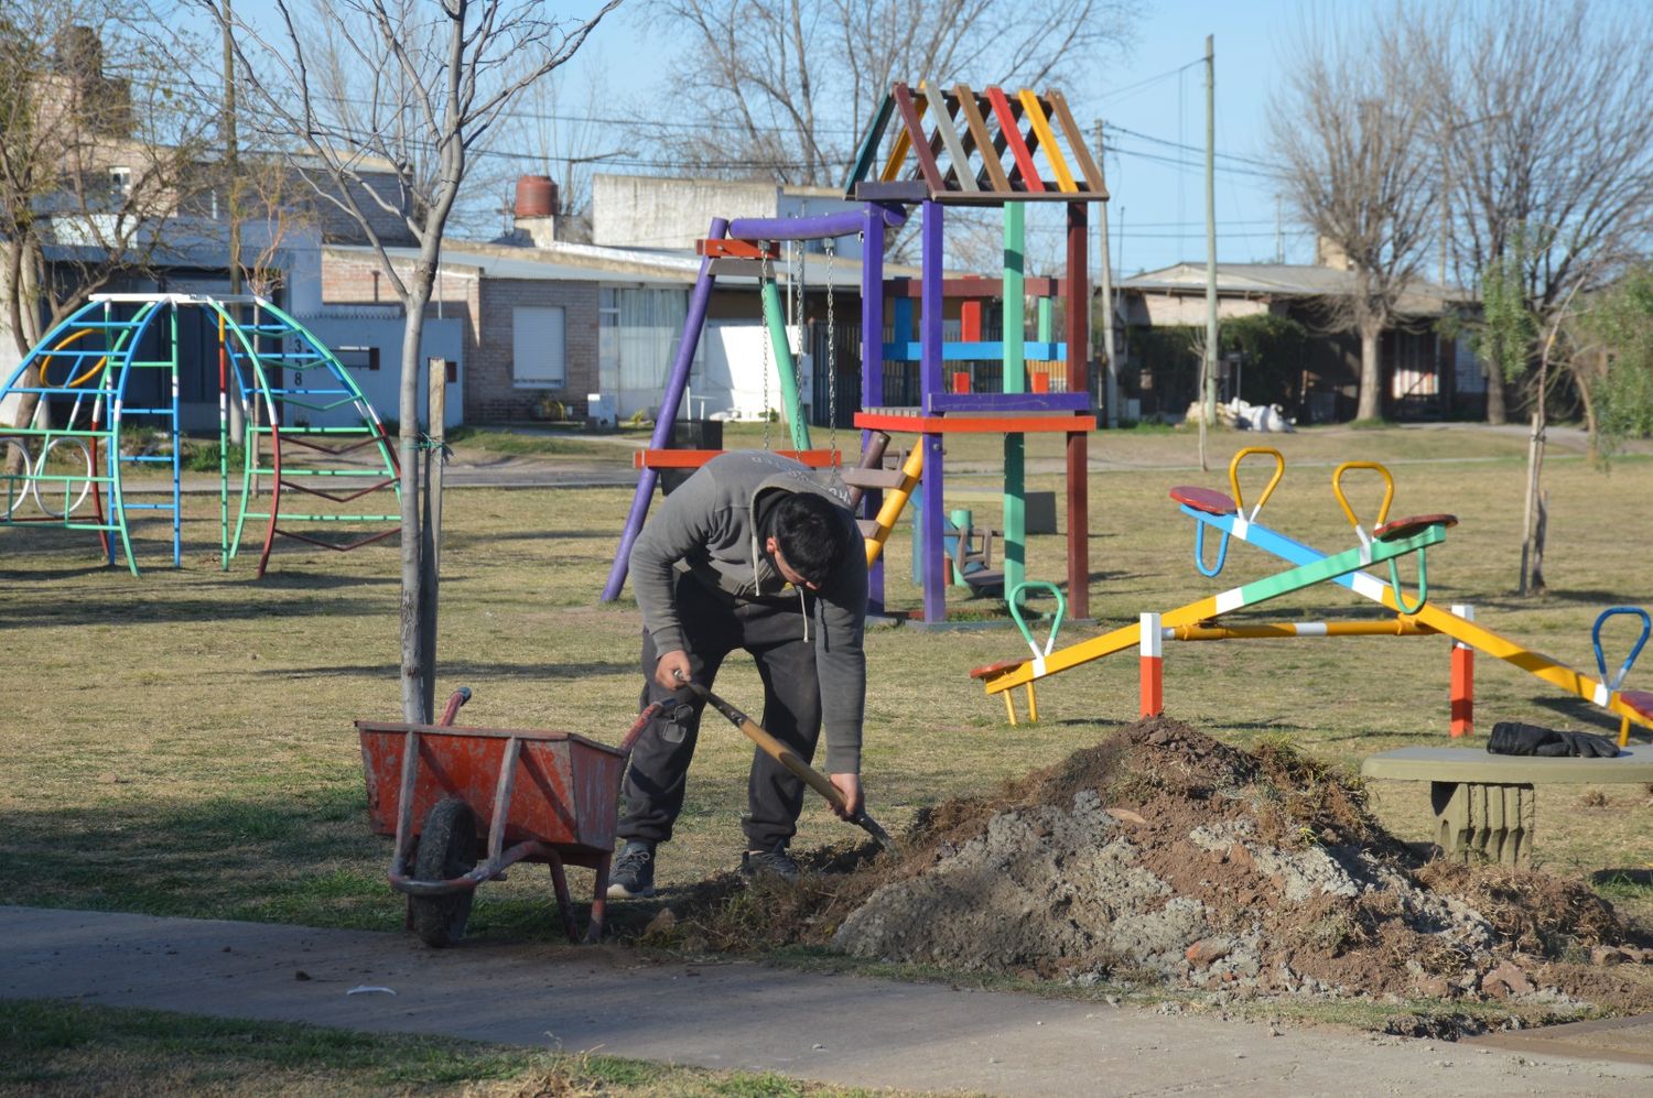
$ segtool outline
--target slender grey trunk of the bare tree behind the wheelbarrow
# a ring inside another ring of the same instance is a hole
[[[402,464],[402,718],[410,723],[428,723],[433,717],[425,707],[425,636],[420,627],[425,575],[418,495],[418,391],[425,304],[430,302],[435,269],[433,263],[420,264],[402,305],[407,310],[402,322],[402,386],[397,401],[397,454]]]

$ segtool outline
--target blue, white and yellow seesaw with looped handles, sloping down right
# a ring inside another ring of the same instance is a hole
[[[1251,507],[1250,512],[1246,512],[1245,500],[1240,494],[1240,464],[1253,454],[1266,454],[1273,457],[1274,476],[1263,489],[1263,494],[1258,497],[1258,502]],[[1365,530],[1360,527],[1360,520],[1354,514],[1354,509],[1349,505],[1349,499],[1342,489],[1344,474],[1357,469],[1377,472],[1384,480],[1384,502],[1380,504],[1377,512],[1377,525],[1374,527],[1374,533],[1385,528],[1384,518],[1389,515],[1389,505],[1393,502],[1395,497],[1395,480],[1389,474],[1389,469],[1370,461],[1349,461],[1337,466],[1337,469],[1332,471],[1332,490],[1337,495],[1337,502],[1342,507],[1344,517],[1349,518],[1349,523],[1354,527],[1355,535],[1360,538],[1360,542],[1367,543],[1370,540],[1370,535],[1367,535]],[[1263,510],[1263,504],[1268,502],[1270,494],[1273,494],[1274,485],[1279,484],[1279,479],[1284,476],[1284,471],[1286,471],[1286,459],[1279,454],[1279,451],[1268,447],[1250,447],[1235,454],[1233,461],[1228,464],[1228,485],[1233,489],[1233,497],[1223,495],[1222,492],[1212,489],[1200,489],[1200,487],[1172,489],[1170,497],[1182,505],[1182,512],[1185,515],[1190,515],[1198,523],[1198,527],[1195,528],[1197,533],[1195,533],[1193,553],[1195,553],[1195,563],[1198,565],[1202,575],[1215,576],[1217,573],[1222,571],[1223,561],[1227,560],[1228,555],[1230,538],[1238,538],[1246,545],[1255,545],[1256,548],[1273,553],[1274,556],[1279,556],[1288,563],[1298,566],[1312,565],[1316,561],[1337,560],[1344,556],[1344,553],[1339,553],[1337,556],[1326,556],[1319,550],[1303,545],[1301,542],[1296,542],[1286,537],[1284,533],[1279,533],[1278,530],[1273,530],[1256,522],[1258,512]],[[1403,522],[1413,522],[1413,520],[1403,520]],[[1389,525],[1392,527],[1393,523]],[[1222,542],[1218,543],[1217,550],[1217,563],[1213,566],[1205,565],[1203,537],[1207,527],[1212,527],[1222,533]],[[1418,556],[1420,594],[1423,589],[1423,581],[1425,581],[1423,558],[1420,555]],[[1491,629],[1478,626],[1460,614],[1455,614],[1448,609],[1441,609],[1440,606],[1423,603],[1422,598],[1420,604],[1408,606],[1405,598],[1400,594],[1400,584],[1395,580],[1393,561],[1390,561],[1390,583],[1384,583],[1380,578],[1357,570],[1341,571],[1339,575],[1332,576],[1332,583],[1346,586],[1355,594],[1395,611],[1397,614],[1402,616],[1400,618],[1402,621],[1413,621],[1420,626],[1427,626],[1428,629],[1441,632],[1451,637],[1453,641],[1458,641],[1460,644],[1465,644],[1479,652],[1486,652],[1488,655],[1494,655],[1508,664],[1514,664],[1521,670],[1537,675],[1539,679],[1552,685],[1557,685],[1562,690],[1584,698],[1585,702],[1590,702],[1612,713],[1617,713],[1620,718],[1620,726],[1618,726],[1620,746],[1623,746],[1630,740],[1632,722],[1645,728],[1653,728],[1653,692],[1618,689],[1623,679],[1630,674],[1630,667],[1635,664],[1636,655],[1640,655],[1641,647],[1646,644],[1648,632],[1653,631],[1653,621],[1648,619],[1646,611],[1641,611],[1633,606],[1613,606],[1602,611],[1602,614],[1595,619],[1592,641],[1595,646],[1595,662],[1602,674],[1602,679],[1597,680],[1574,670],[1572,667],[1567,667],[1565,664],[1562,664],[1554,657],[1544,655],[1542,652],[1536,652],[1522,644],[1511,641],[1509,637],[1504,637],[1501,634],[1493,632]],[[1608,618],[1613,618],[1615,614],[1640,616],[1643,629],[1641,629],[1641,637],[1636,641],[1635,647],[1630,652],[1630,657],[1613,675],[1608,675],[1607,659],[1602,654],[1602,626],[1607,622]],[[1172,622],[1167,618],[1164,624],[1170,627],[1179,622]]]

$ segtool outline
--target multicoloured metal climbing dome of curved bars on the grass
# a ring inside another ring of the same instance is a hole
[[[179,320],[190,312],[217,335],[222,566],[250,523],[264,532],[260,576],[278,537],[345,551],[397,533],[398,507],[352,507],[379,492],[400,497],[400,484],[383,424],[334,353],[263,297],[195,294],[96,294],[12,372],[0,405],[33,398],[35,413],[28,426],[0,428],[0,454],[17,467],[0,471],[0,527],[93,532],[107,561],[119,551],[136,576],[132,522],[162,515],[172,566],[182,565]],[[245,411],[240,469],[230,466],[230,401]],[[139,467],[160,467],[167,480],[134,477]],[[294,497],[314,502],[294,510]]]

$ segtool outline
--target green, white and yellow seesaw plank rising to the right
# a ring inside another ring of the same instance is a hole
[[[1316,560],[1299,561],[1298,566],[1289,571],[1255,580],[1243,586],[1167,611],[1160,614],[1160,624],[1165,629],[1174,629],[1177,626],[1210,621],[1212,618],[1218,618],[1246,606],[1256,606],[1258,603],[1314,586],[1316,583],[1337,580],[1339,576],[1359,571],[1367,565],[1377,565],[1407,553],[1422,551],[1427,547],[1445,540],[1445,525],[1431,523],[1417,533],[1393,540],[1380,538],[1369,545],[1357,545],[1355,548],[1336,553],[1334,556],[1316,553]],[[1079,641],[1078,644],[1056,649],[1048,655],[977,667],[970,672],[970,677],[982,679],[988,693],[1003,693],[1005,690],[1055,675],[1056,672],[1068,670],[1069,667],[1078,667],[1079,664],[1088,664],[1094,659],[1103,659],[1104,655],[1112,655],[1114,652],[1136,647],[1139,641],[1141,626],[1132,622],[1129,626],[1121,626],[1112,632],[1104,632],[1099,637],[1091,637],[1089,641]]]

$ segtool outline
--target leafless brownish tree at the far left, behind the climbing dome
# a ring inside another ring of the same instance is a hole
[[[0,15],[0,324],[20,357],[91,294],[154,277],[215,182],[210,119],[172,92],[141,23],[86,0]],[[33,368],[21,385],[40,385]],[[21,393],[13,426],[36,406]]]

